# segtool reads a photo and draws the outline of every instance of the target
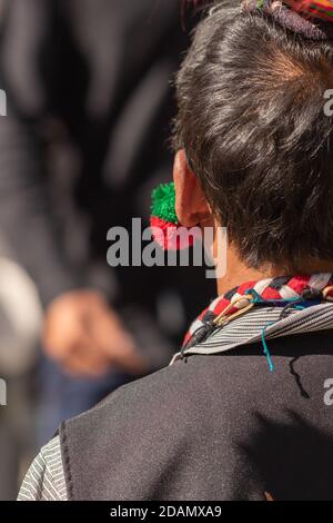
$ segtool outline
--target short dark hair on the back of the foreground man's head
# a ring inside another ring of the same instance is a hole
[[[248,265],[333,259],[333,48],[239,2],[199,23],[176,77],[175,148]]]

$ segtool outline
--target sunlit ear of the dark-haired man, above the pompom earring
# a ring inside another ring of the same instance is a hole
[[[175,188],[175,213],[185,227],[194,227],[211,218],[211,211],[200,182],[188,164],[183,149],[174,158],[173,181]]]

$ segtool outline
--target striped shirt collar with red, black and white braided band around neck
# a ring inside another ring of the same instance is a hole
[[[246,282],[203,310],[171,363],[184,355],[218,354],[260,341],[265,347],[270,338],[333,328],[332,302],[332,274]],[[242,315],[242,308],[251,310]]]

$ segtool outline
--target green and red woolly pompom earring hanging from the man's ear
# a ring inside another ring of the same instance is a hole
[[[152,191],[150,226],[152,237],[164,250],[179,250],[191,247],[198,234],[198,227],[189,229],[182,226],[175,213],[175,190],[173,181],[161,184]]]

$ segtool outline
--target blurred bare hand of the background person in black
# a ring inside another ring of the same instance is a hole
[[[118,315],[94,290],[69,292],[49,305],[43,345],[73,375],[100,376],[112,366],[140,375],[148,368]]]

